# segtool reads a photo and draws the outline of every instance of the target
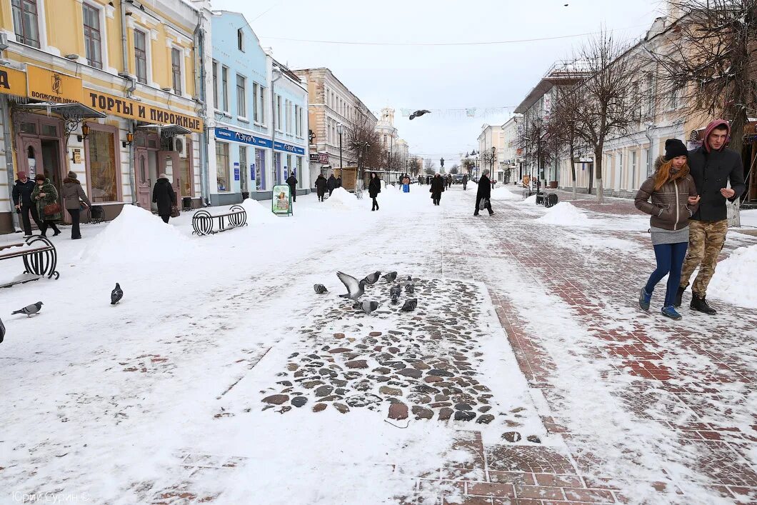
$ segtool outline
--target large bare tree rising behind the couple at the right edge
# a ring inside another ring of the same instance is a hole
[[[673,33],[668,43],[649,51],[659,64],[658,87],[684,104],[688,109],[684,114],[699,112],[728,120],[729,147],[741,153],[744,127],[757,114],[757,72],[752,67],[757,0],[671,0],[670,4],[678,15]],[[728,208],[734,211],[731,224],[738,226],[739,202]]]

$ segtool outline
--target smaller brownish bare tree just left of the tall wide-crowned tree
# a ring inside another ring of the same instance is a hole
[[[547,123],[547,132],[553,140],[556,154],[565,152],[569,158],[571,179],[573,182],[573,199],[578,198],[576,189],[575,158],[584,148],[581,139],[580,114],[584,109],[583,94],[580,83],[574,86],[556,86],[553,108]],[[593,169],[589,169],[588,189],[591,193]]]

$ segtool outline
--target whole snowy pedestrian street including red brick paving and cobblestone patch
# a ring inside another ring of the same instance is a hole
[[[60,279],[0,290],[0,503],[757,501],[757,295],[732,280],[757,277],[757,211],[728,232],[718,315],[687,291],[671,321],[662,283],[637,305],[632,201],[497,188],[474,217],[475,191],[429,196],[247,200],[248,226],[203,237],[132,206],[64,228]],[[397,277],[365,313],[338,271]]]

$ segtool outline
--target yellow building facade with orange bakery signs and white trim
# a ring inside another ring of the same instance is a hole
[[[19,171],[59,190],[76,173],[106,218],[151,209],[160,173],[201,204],[209,18],[207,2],[0,0],[0,232],[18,229]]]

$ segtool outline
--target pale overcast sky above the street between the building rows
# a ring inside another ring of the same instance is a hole
[[[569,4],[567,7],[564,4]],[[410,152],[444,156],[477,147],[481,125],[501,124],[556,60],[586,36],[496,45],[336,45],[339,42],[493,42],[592,33],[636,39],[665,11],[661,0],[213,0],[245,14],[263,47],[289,67],[328,67],[394,125]],[[439,109],[408,120],[400,109]],[[456,109],[476,108],[475,117]],[[489,109],[489,110],[487,110]]]

